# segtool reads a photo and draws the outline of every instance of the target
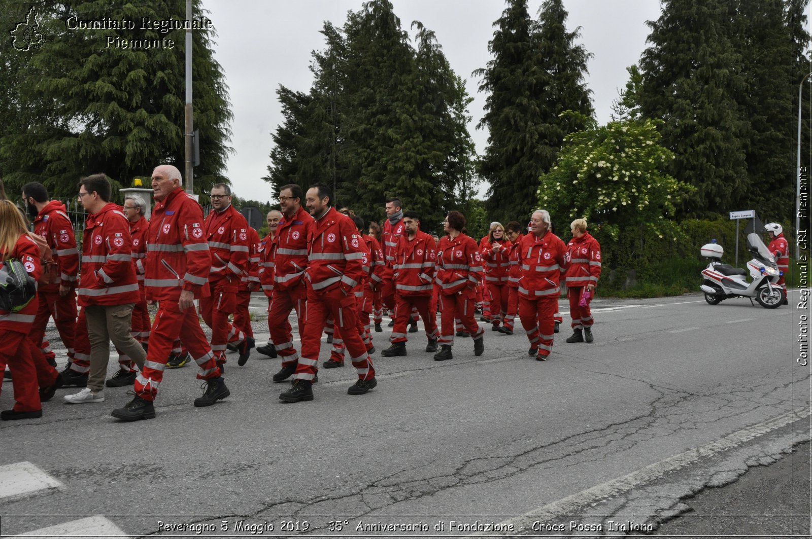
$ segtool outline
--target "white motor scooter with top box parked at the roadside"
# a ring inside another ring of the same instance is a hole
[[[715,239],[711,244],[702,245],[702,256],[711,259],[702,270],[701,287],[709,304],[730,298],[748,298],[750,303],[755,298],[764,308],[776,308],[784,303],[784,291],[776,284],[782,272],[778,270],[775,257],[758,234],[747,235],[747,248],[753,260],[747,262],[747,270],[742,270],[722,263],[724,250]]]

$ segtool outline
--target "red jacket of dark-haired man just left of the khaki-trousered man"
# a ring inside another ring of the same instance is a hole
[[[52,284],[39,287],[41,292],[57,292],[60,284],[76,287],[79,275],[79,250],[73,235],[73,223],[67,218],[65,205],[50,201],[34,218],[34,234],[45,238],[56,262],[57,274]]]

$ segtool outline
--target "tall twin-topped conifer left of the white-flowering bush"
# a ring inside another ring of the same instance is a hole
[[[526,0],[508,0],[495,22],[488,50],[494,58],[479,90],[489,93],[486,114],[477,127],[489,130],[488,146],[478,163],[490,182],[486,208],[503,221],[525,218],[537,199],[539,175],[550,170],[564,136],[577,129],[577,118],[564,110],[593,114],[583,84],[589,54],[567,32],[561,0],[547,0],[538,21],[530,19]]]

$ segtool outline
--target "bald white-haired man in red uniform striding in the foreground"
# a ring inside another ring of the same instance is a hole
[[[175,338],[182,335],[206,381],[195,406],[210,406],[231,395],[220,376],[209,343],[201,329],[195,298],[209,294],[211,255],[203,235],[203,211],[184,192],[180,171],[171,165],[153,170],[152,188],[157,204],[149,222],[149,243],[145,263],[147,300],[158,302],[158,313],[149,334],[149,352],[144,369],[136,377],[136,396],[112,412],[121,420],[155,417],[153,401],[163,380],[163,369]]]

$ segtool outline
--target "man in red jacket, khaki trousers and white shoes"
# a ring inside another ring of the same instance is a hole
[[[112,187],[106,175],[95,174],[79,182],[79,198],[89,213],[82,239],[77,334],[86,331],[90,343],[87,387],[65,395],[67,403],[104,402],[104,379],[110,361],[110,341],[143,368],[146,353],[132,337],[132,308],[140,300],[138,278],[132,265],[130,223],[121,206],[110,202]]]

